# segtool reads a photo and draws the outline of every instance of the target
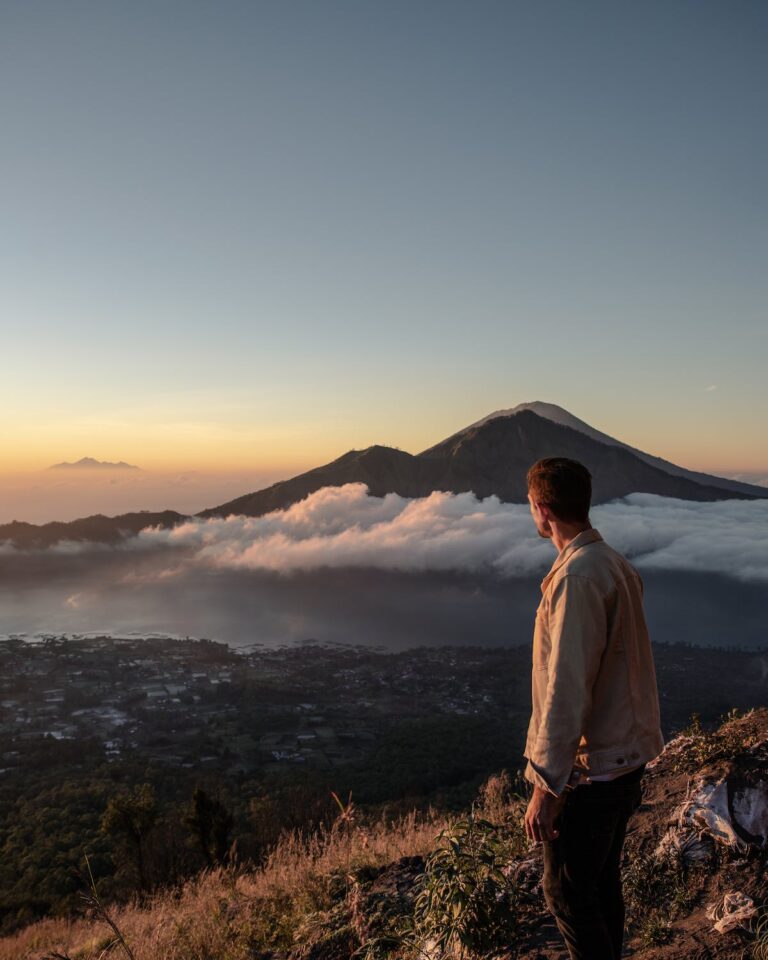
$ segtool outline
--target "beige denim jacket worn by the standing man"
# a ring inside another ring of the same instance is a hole
[[[664,749],[640,574],[594,528],[541,584],[524,776],[561,795],[574,767],[629,769]]]

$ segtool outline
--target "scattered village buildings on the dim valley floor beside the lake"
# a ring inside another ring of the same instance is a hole
[[[10,636],[0,640],[0,776],[33,755],[56,763],[99,753],[230,775],[334,767],[363,758],[394,719],[522,714],[510,705],[525,704],[527,653],[496,651],[490,670],[488,655]]]

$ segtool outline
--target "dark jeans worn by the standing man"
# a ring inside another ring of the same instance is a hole
[[[640,806],[645,764],[615,780],[581,784],[559,814],[560,833],[544,841],[542,886],[571,960],[619,960],[624,940],[621,848]]]

